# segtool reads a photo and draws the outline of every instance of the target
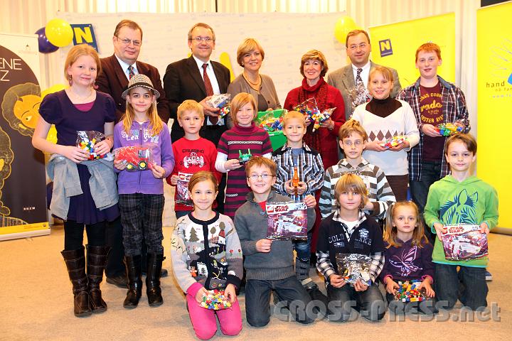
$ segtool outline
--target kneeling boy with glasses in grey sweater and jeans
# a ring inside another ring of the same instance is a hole
[[[299,323],[312,323],[306,314],[306,305],[311,301],[306,288],[295,276],[294,255],[291,240],[267,239],[267,203],[289,202],[289,197],[272,190],[276,181],[277,166],[274,161],[260,156],[253,157],[245,166],[247,185],[252,192],[247,202],[235,213],[235,227],[240,237],[245,256],[245,312],[247,323],[252,327],[263,327],[270,322],[270,292],[277,293],[282,301],[292,303],[292,315]],[[308,207],[308,229],[315,221],[312,195],[304,198]],[[302,304],[304,303],[304,304]]]

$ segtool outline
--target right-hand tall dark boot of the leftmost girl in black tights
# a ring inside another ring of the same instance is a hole
[[[103,280],[109,251],[110,247],[87,245],[87,278],[89,278],[89,302],[92,313],[103,313],[107,310],[107,303],[101,296],[100,283]]]

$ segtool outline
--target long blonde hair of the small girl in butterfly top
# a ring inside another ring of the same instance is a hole
[[[388,207],[383,238],[384,242],[388,242],[389,244],[387,248],[402,246],[402,243],[398,242],[397,227],[393,226],[393,215],[395,214],[396,208],[400,206],[411,207],[415,212],[416,227],[414,232],[412,232],[411,244],[415,247],[423,247],[425,244],[429,244],[427,236],[425,236],[425,227],[423,226],[423,220],[421,219],[420,210],[418,210],[417,205],[412,201],[400,201],[394,202]]]

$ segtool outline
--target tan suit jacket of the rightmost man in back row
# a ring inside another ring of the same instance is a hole
[[[373,63],[370,60],[370,68],[378,66],[378,64]],[[400,85],[400,80],[398,79],[397,70],[389,67],[391,72],[393,72],[393,78],[395,82],[393,82],[393,90],[391,90],[391,97],[397,97],[400,90],[402,90],[402,86]],[[352,99],[349,93],[354,87],[356,87],[356,80],[353,77],[352,64],[348,64],[346,66],[341,67],[341,69],[335,70],[334,72],[329,73],[327,76],[327,83],[336,87],[341,92],[341,96],[343,96],[343,101],[345,102],[345,118],[348,120],[353,114],[352,107]]]

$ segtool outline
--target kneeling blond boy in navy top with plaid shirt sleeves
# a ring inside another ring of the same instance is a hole
[[[324,275],[329,298],[329,320],[346,321],[351,308],[363,318],[381,320],[385,315],[382,293],[375,284],[384,266],[384,242],[378,223],[363,212],[366,185],[358,175],[347,173],[336,183],[338,210],[322,220],[316,244],[316,269]],[[348,283],[338,273],[336,254],[361,254],[370,258],[370,285],[357,279]],[[356,302],[356,307],[351,302]]]

